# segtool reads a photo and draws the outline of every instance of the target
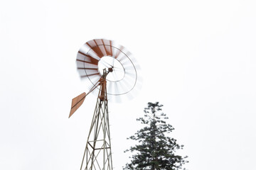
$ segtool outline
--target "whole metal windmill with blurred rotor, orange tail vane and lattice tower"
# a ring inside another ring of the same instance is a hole
[[[142,81],[139,65],[122,45],[104,39],[90,40],[82,45],[76,62],[81,79],[89,81],[91,86],[87,94],[73,98],[69,118],[88,94],[97,94],[80,170],[112,170],[108,102],[132,98],[137,93],[135,85],[140,87]]]

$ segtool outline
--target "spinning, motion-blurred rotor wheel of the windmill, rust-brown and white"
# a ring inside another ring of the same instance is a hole
[[[137,61],[131,52],[112,40],[96,39],[86,42],[80,47],[76,62],[80,78],[89,80],[92,86],[102,77],[103,69],[112,69],[106,78],[110,101],[113,96],[131,98],[134,96],[132,91],[136,91],[135,85],[142,81]]]

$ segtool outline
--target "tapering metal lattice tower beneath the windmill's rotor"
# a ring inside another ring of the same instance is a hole
[[[107,94],[98,96],[80,170],[112,170]]]

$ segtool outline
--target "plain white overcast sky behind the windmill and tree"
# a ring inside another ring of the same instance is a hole
[[[80,169],[96,97],[85,91],[80,46],[106,38],[139,61],[137,98],[110,103],[113,164],[122,169],[146,103],[159,101],[190,170],[253,169],[256,2],[1,1],[0,169]]]

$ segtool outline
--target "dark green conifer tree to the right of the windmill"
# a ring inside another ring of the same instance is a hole
[[[144,108],[144,118],[137,119],[145,127],[138,130],[129,140],[137,140],[139,145],[130,147],[124,152],[133,152],[132,160],[124,169],[135,170],[178,170],[187,161],[186,157],[175,154],[177,149],[183,149],[174,138],[166,136],[174,128],[166,124],[166,114],[159,113],[163,105],[148,103]]]

